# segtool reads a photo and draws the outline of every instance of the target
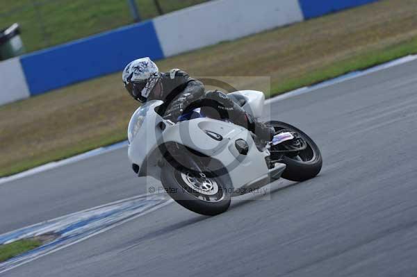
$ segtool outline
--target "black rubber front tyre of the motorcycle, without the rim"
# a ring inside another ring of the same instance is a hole
[[[190,187],[184,187],[186,183],[181,181],[179,175],[186,170],[181,168],[175,169],[169,163],[162,168],[161,183],[172,199],[184,208],[200,215],[213,216],[226,212],[230,205],[231,196],[220,178],[209,176],[212,181],[214,180],[217,183],[219,193],[220,190],[222,191],[222,197],[220,198],[219,196],[220,199],[218,201],[205,201],[196,196],[204,194],[198,194],[198,192],[190,190]]]

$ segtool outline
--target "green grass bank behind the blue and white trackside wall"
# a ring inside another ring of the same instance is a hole
[[[207,0],[1,0],[0,29],[17,22],[31,52]]]

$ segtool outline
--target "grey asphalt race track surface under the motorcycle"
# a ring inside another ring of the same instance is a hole
[[[217,217],[165,205],[3,276],[417,276],[417,62],[271,115],[316,140],[317,178]],[[143,193],[120,149],[0,185],[0,233]]]

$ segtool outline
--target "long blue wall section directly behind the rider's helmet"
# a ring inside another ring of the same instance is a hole
[[[136,58],[163,58],[152,21],[22,56],[31,95],[121,71]]]

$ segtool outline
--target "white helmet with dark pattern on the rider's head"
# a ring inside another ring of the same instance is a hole
[[[148,57],[133,60],[126,65],[122,74],[124,87],[131,96],[145,102],[161,78],[158,67]]]

